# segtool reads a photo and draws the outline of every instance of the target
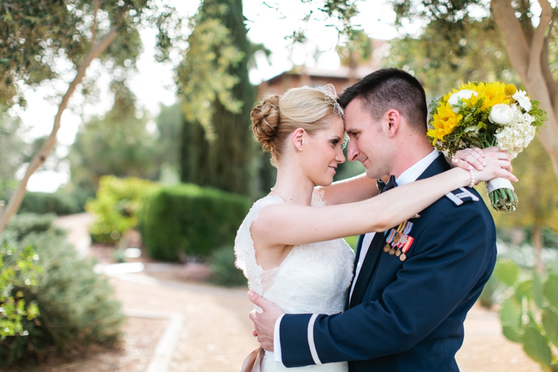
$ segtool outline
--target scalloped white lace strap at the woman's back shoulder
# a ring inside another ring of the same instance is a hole
[[[257,265],[250,226],[252,222],[257,220],[259,211],[266,207],[266,205],[283,202],[285,201],[277,196],[266,196],[257,200],[252,205],[250,211],[248,211],[244,221],[242,221],[238,232],[236,232],[236,239],[234,239],[234,255],[236,255],[236,262],[234,263],[236,267],[243,271],[244,276],[248,279],[248,288],[258,295],[263,295],[264,285],[262,280],[266,271]]]

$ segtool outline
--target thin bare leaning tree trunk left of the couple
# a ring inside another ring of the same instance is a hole
[[[86,55],[83,63],[79,68],[77,68],[77,73],[74,77],[74,80],[70,82],[68,91],[66,91],[66,94],[64,94],[64,96],[62,97],[62,101],[58,107],[58,112],[56,112],[56,117],[54,117],[54,126],[52,127],[52,133],[50,133],[40,151],[35,156],[33,156],[33,159],[31,159],[31,163],[29,163],[29,167],[27,167],[27,171],[25,172],[23,179],[17,185],[17,189],[11,196],[10,202],[8,202],[6,209],[0,216],[0,235],[2,234],[4,228],[6,228],[6,224],[8,223],[9,219],[15,214],[17,209],[20,208],[20,204],[22,203],[23,197],[25,195],[25,188],[27,187],[29,177],[31,177],[31,174],[38,170],[40,165],[42,165],[47,157],[50,155],[52,149],[54,149],[54,144],[56,144],[56,134],[58,133],[60,128],[60,119],[62,117],[62,113],[64,112],[64,110],[66,110],[68,101],[77,88],[77,84],[80,84],[80,82],[82,81],[82,78],[84,77],[87,68],[89,68],[91,61],[99,57],[100,54],[107,49],[110,43],[112,43],[114,38],[116,38],[116,29],[116,26],[111,27],[108,34],[103,36],[103,38],[99,40],[98,43],[93,44],[93,47],[91,47],[91,50],[89,50],[89,53]]]

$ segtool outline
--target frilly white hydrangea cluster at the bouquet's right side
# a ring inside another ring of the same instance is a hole
[[[535,121],[529,114],[523,114],[518,105],[511,106],[513,120],[507,126],[502,126],[496,131],[495,137],[500,149],[508,151],[513,159],[531,143],[535,137],[536,129],[531,124]]]

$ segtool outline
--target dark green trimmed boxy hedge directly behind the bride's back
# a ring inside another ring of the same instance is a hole
[[[142,239],[151,258],[206,258],[232,245],[250,199],[215,188],[181,184],[151,195],[142,213]]]

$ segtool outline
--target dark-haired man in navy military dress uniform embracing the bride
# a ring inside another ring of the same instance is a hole
[[[450,168],[426,137],[425,93],[412,75],[377,70],[339,101],[348,158],[368,177],[393,175],[403,185]],[[460,188],[395,230],[361,235],[343,313],[283,315],[250,292],[264,309],[250,314],[262,348],[287,367],[349,361],[355,372],[459,371],[463,322],[496,260],[495,225],[479,200]]]

